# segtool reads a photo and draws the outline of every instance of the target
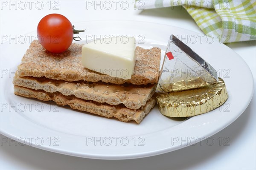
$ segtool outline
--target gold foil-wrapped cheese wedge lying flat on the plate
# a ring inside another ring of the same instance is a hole
[[[157,95],[160,112],[169,117],[189,117],[207,113],[223,105],[228,98],[223,79],[203,88]]]

